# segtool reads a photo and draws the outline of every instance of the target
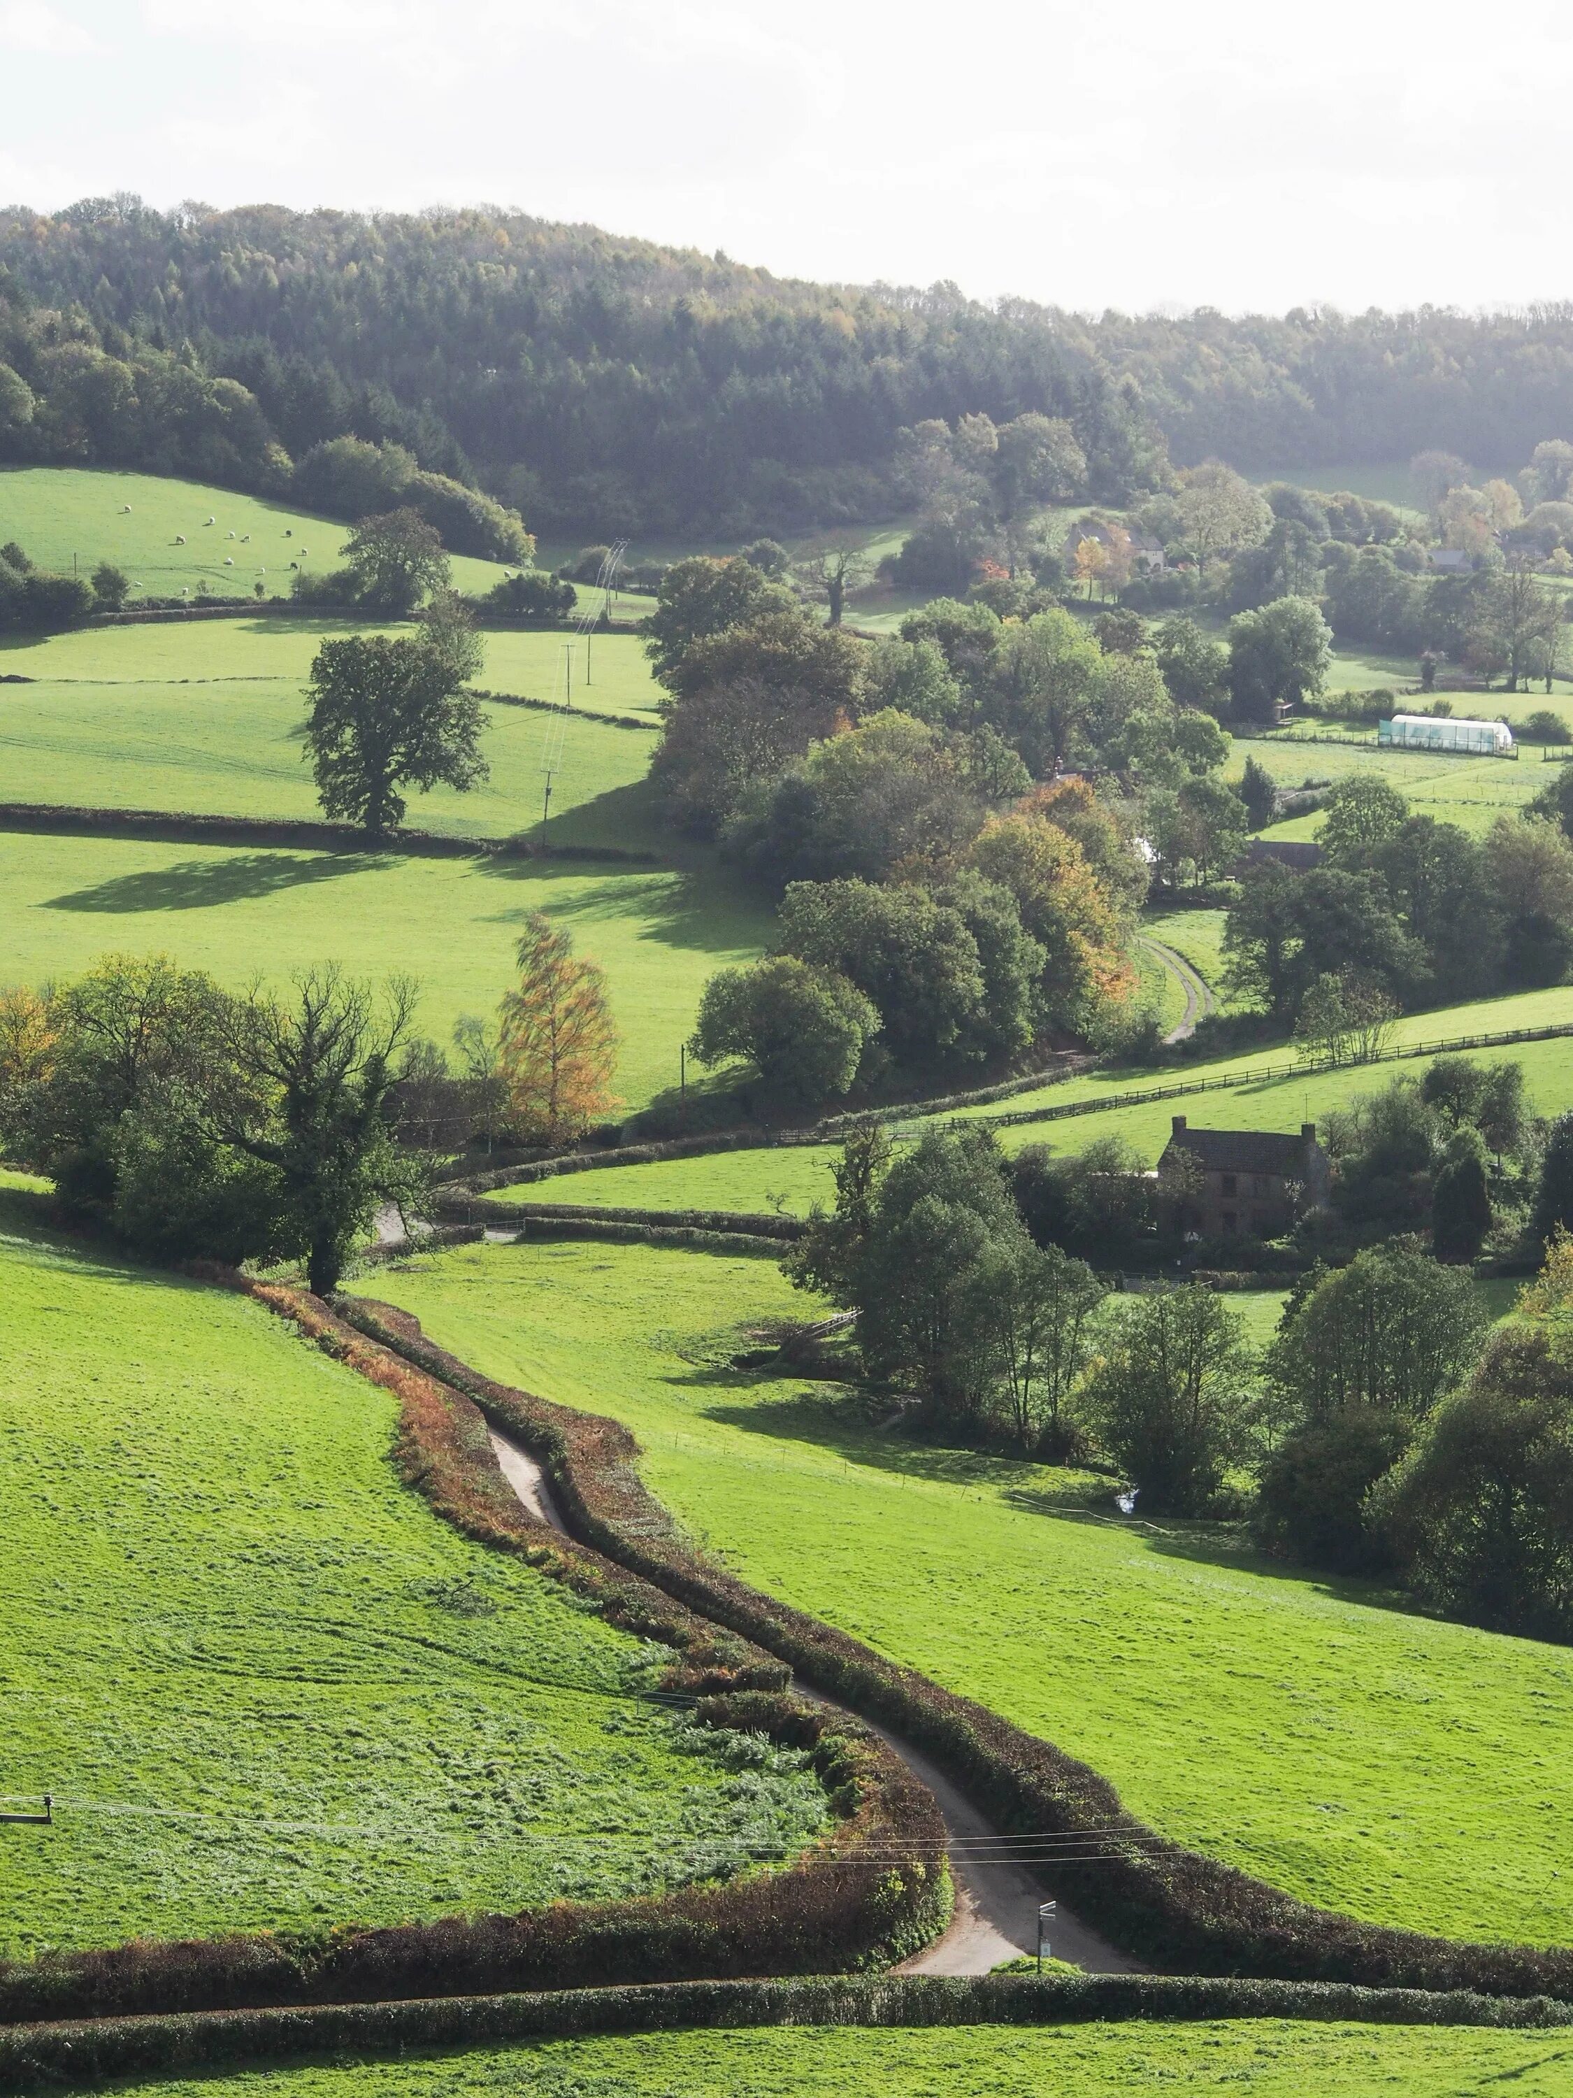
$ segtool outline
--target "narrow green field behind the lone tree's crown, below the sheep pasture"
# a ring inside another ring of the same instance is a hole
[[[44,684],[216,686],[243,680],[277,682],[302,692],[310,663],[325,640],[344,634],[411,634],[411,625],[375,619],[325,619],[294,613],[258,613],[235,619],[164,619],[130,627],[76,627],[42,640],[0,636],[0,676]],[[583,638],[562,631],[482,627],[484,663],[476,684],[520,699],[570,703],[581,713],[638,713],[656,724],[659,688],[644,642],[635,634],[600,634],[589,642],[591,682],[585,684]],[[564,669],[573,650],[573,690]],[[0,688],[4,692],[4,688]]]

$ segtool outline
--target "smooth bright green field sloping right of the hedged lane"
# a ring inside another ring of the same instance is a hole
[[[1118,1519],[1107,1481],[736,1370],[740,1322],[812,1313],[763,1261],[476,1246],[369,1288],[487,1374],[617,1414],[709,1550],[1082,1756],[1168,1834],[1363,1918],[1569,1941],[1567,1649],[1269,1571],[1227,1532]]]

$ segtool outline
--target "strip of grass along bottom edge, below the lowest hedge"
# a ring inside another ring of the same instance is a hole
[[[640,2033],[141,2083],[143,2098],[1560,2098],[1567,2033],[1391,2025],[1065,2025]]]

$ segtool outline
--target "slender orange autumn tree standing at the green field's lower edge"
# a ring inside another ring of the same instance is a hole
[[[499,1007],[510,1122],[562,1143],[617,1106],[610,1091],[617,1028],[606,973],[573,950],[545,911],[533,911],[518,942],[518,988]]]

